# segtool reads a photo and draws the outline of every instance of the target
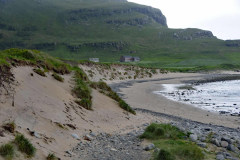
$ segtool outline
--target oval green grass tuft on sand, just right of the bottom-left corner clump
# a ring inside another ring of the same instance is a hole
[[[27,138],[24,137],[24,135],[16,135],[14,143],[18,146],[18,149],[28,157],[33,157],[35,155],[36,148]]]

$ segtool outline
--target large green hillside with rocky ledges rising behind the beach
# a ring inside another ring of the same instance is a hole
[[[160,10],[125,0],[0,0],[0,49],[13,47],[104,62],[133,55],[154,67],[240,62],[240,41],[169,29]]]

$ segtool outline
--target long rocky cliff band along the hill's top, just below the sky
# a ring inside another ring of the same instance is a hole
[[[133,17],[130,14],[132,13],[141,13],[143,18],[130,18],[130,19],[116,19],[116,15],[128,15],[128,17]],[[114,16],[114,17],[113,17]],[[144,18],[147,16],[148,18]],[[127,7],[123,9],[103,9],[103,8],[82,8],[78,10],[72,10],[68,13],[66,21],[68,24],[71,23],[81,23],[84,21],[89,21],[94,18],[106,19],[105,23],[117,23],[117,24],[148,24],[152,21],[155,21],[163,26],[167,27],[167,21],[165,16],[159,9],[152,7]],[[150,20],[149,20],[150,19]]]

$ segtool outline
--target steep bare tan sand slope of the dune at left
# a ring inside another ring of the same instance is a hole
[[[148,115],[134,116],[127,113],[114,100],[96,90],[92,90],[93,111],[88,111],[74,102],[75,97],[71,92],[74,85],[72,74],[64,75],[65,81],[61,83],[56,81],[51,73],[47,73],[47,77],[41,77],[32,69],[32,67],[12,69],[15,75],[12,87],[15,91],[11,95],[1,92],[0,126],[14,121],[17,126],[16,133],[24,134],[37,148],[33,159],[46,159],[49,153],[54,153],[64,160],[72,159],[65,153],[79,143],[72,134],[77,134],[80,141],[83,141],[83,136],[90,131],[96,134],[101,132],[113,134],[120,131],[124,133],[137,129],[142,123],[154,120]],[[72,124],[76,129],[65,124]],[[40,138],[31,136],[27,128],[38,133]],[[1,127],[0,129],[2,130]],[[0,145],[14,139],[14,134],[7,131],[4,135],[5,137],[0,138]],[[17,155],[15,159],[25,159],[19,152]]]

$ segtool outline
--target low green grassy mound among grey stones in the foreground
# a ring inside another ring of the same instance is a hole
[[[187,134],[170,124],[149,125],[140,138],[148,139],[160,148],[154,160],[203,160],[202,150],[187,140]]]

